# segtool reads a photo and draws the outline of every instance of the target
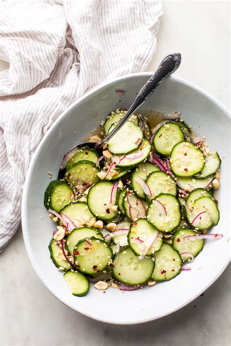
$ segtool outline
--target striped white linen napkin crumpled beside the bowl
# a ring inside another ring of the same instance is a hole
[[[20,222],[24,178],[39,141],[77,98],[144,71],[156,48],[161,0],[0,3],[0,251]]]

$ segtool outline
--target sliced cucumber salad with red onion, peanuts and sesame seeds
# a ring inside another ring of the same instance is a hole
[[[108,115],[101,134],[125,114]],[[73,148],[44,195],[57,223],[50,256],[71,293],[86,295],[91,282],[134,290],[193,269],[204,239],[222,237],[208,233],[219,222],[221,160],[205,137],[194,138],[179,115],[152,129],[134,114],[98,152]]]

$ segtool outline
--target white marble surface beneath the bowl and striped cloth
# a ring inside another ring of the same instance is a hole
[[[172,52],[182,53],[176,76],[230,106],[230,1],[164,1],[158,46],[148,71]],[[0,69],[7,64],[0,61]],[[21,229],[1,254],[2,346],[228,346],[231,266],[187,307],[139,326],[111,326],[60,303],[39,281]],[[121,311],[122,313],[122,311]]]

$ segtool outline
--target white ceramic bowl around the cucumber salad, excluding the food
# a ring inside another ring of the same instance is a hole
[[[57,177],[63,154],[95,129],[116,108],[129,108],[136,93],[151,76],[139,73],[101,85],[73,103],[53,124],[36,150],[22,198],[22,228],[31,263],[44,285],[64,304],[96,320],[115,324],[135,324],[165,316],[191,302],[208,288],[230,261],[227,242],[230,230],[230,115],[212,96],[181,79],[170,77],[144,104],[164,112],[181,111],[182,118],[199,135],[205,135],[212,150],[225,155],[221,165],[219,200],[220,222],[215,228],[222,239],[207,240],[202,253],[172,281],[131,292],[109,288],[104,294],[93,286],[86,297],[73,296],[62,273],[50,260],[48,243],[54,222],[43,206],[50,179]],[[124,89],[126,94],[116,93]],[[119,102],[120,100],[120,102]],[[95,117],[94,114],[97,114]],[[41,219],[41,215],[43,218]]]

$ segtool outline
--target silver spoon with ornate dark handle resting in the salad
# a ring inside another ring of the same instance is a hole
[[[127,113],[124,115],[124,117],[118,122],[115,129],[113,129],[109,135],[107,135],[105,138],[101,139],[98,142],[82,142],[77,144],[75,148],[87,146],[88,148],[94,148],[95,150],[99,151],[100,148],[107,144],[108,140],[111,139],[117,131],[119,131],[119,129],[130,118],[130,116],[134,114],[136,109],[139,108],[148,99],[148,97],[156,91],[156,89],[160,86],[163,80],[169,77],[178,69],[178,67],[180,66],[180,62],[180,53],[173,53],[164,58],[161,61],[155,73],[152,75],[152,77],[150,77],[149,80],[144,84],[139,94],[136,96],[135,101],[133,102]],[[61,171],[64,170],[60,170],[59,175]]]

